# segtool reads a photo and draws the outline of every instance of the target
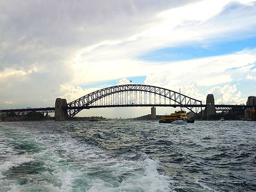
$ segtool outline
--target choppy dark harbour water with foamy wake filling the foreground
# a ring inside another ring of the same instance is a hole
[[[0,192],[255,190],[256,122],[0,122]]]

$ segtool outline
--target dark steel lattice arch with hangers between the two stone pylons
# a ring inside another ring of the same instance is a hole
[[[83,109],[109,107],[164,106],[182,107],[196,115],[202,111],[202,101],[178,92],[145,84],[125,84],[94,91],[67,103],[67,115],[74,117]]]

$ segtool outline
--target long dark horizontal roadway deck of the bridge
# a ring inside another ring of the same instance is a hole
[[[90,105],[90,106],[76,106],[76,107],[63,107],[63,109],[90,109],[90,108],[113,108],[113,107],[179,107],[180,105],[174,104],[126,104],[126,105]],[[205,104],[202,105],[182,105],[184,108],[198,107],[206,108]],[[246,109],[252,108],[250,105],[215,105],[216,111],[228,111],[233,109]],[[2,113],[15,113],[15,114],[26,114],[29,112],[40,112],[40,113],[54,113],[54,107],[48,108],[23,108],[23,109],[2,109]]]

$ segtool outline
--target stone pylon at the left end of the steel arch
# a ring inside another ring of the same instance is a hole
[[[63,121],[68,119],[67,109],[63,109],[64,107],[67,107],[67,100],[57,98],[55,101],[55,113],[54,113],[56,121]]]

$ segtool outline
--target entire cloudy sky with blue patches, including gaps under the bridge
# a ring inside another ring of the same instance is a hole
[[[0,0],[0,107],[52,107],[129,80],[245,104],[256,95],[255,13],[253,0]]]

